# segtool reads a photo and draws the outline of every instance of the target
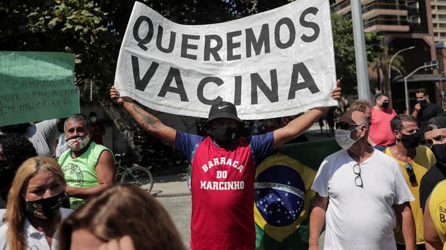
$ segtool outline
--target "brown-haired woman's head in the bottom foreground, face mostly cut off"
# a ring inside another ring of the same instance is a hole
[[[134,249],[184,249],[167,211],[133,185],[102,190],[75,210],[61,225],[60,249],[107,249],[104,244],[125,243],[126,235]]]

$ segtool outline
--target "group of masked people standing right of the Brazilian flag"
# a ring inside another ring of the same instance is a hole
[[[323,222],[325,249],[443,249],[446,113],[425,89],[416,99],[411,115],[397,115],[380,93],[374,106],[356,100],[341,116],[335,138],[344,150],[325,158],[312,185],[310,249]]]

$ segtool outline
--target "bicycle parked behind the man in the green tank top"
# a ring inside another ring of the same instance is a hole
[[[150,170],[141,167],[126,167],[121,164],[122,158],[125,153],[116,153],[114,155],[116,159],[116,176],[115,181],[118,183],[137,185],[139,188],[151,192],[153,188],[153,175]]]

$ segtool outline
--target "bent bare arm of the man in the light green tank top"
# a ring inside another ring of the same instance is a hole
[[[89,198],[91,195],[104,190],[114,184],[114,158],[110,151],[102,151],[99,156],[98,163],[96,164],[96,176],[98,176],[99,185],[91,188],[76,188],[69,187],[66,188],[66,193],[69,197],[76,197],[80,199]]]

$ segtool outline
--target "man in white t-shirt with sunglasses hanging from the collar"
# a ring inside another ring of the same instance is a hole
[[[367,144],[368,132],[364,113],[339,119],[335,138],[343,149],[323,160],[312,185],[309,249],[319,249],[324,221],[324,249],[397,249],[397,223],[406,249],[415,249],[414,197],[398,163]]]

